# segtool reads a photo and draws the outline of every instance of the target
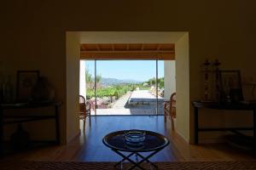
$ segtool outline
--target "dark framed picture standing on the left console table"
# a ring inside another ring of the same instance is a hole
[[[32,88],[37,84],[39,71],[17,71],[17,100],[29,101],[32,99]]]

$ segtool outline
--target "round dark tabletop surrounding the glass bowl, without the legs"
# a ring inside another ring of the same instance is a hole
[[[143,143],[129,144],[125,140],[125,133],[131,131],[140,131],[145,134]],[[122,130],[113,133],[108,133],[103,139],[103,144],[107,145],[113,150],[127,151],[127,152],[148,152],[154,150],[161,150],[169,144],[169,140],[160,133],[155,133],[146,130]]]

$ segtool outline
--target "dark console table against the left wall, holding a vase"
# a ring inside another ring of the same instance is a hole
[[[60,128],[59,128],[59,107],[61,102],[42,102],[42,103],[12,103],[0,104],[0,156],[3,156],[3,126],[5,124],[21,123],[21,122],[34,122],[46,119],[55,119],[55,140],[47,141],[49,143],[60,144]],[[15,114],[7,114],[6,110],[17,109],[37,109],[44,107],[54,108],[54,114],[51,115],[24,115],[19,112]],[[44,141],[46,142],[46,141]]]

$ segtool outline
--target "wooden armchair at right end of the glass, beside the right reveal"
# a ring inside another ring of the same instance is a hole
[[[166,116],[169,116],[171,118],[172,130],[174,130],[174,119],[176,118],[176,93],[173,93],[171,95],[171,98],[169,101],[165,101],[164,108],[165,108],[165,120],[166,120]]]

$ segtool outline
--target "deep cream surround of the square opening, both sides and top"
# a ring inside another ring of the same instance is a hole
[[[79,47],[90,43],[172,42],[176,48],[177,133],[189,142],[189,33],[188,32],[126,32],[67,31],[67,141],[79,133]],[[74,78],[75,77],[75,78]],[[78,82],[74,82],[77,81]],[[77,125],[75,125],[77,124]]]

